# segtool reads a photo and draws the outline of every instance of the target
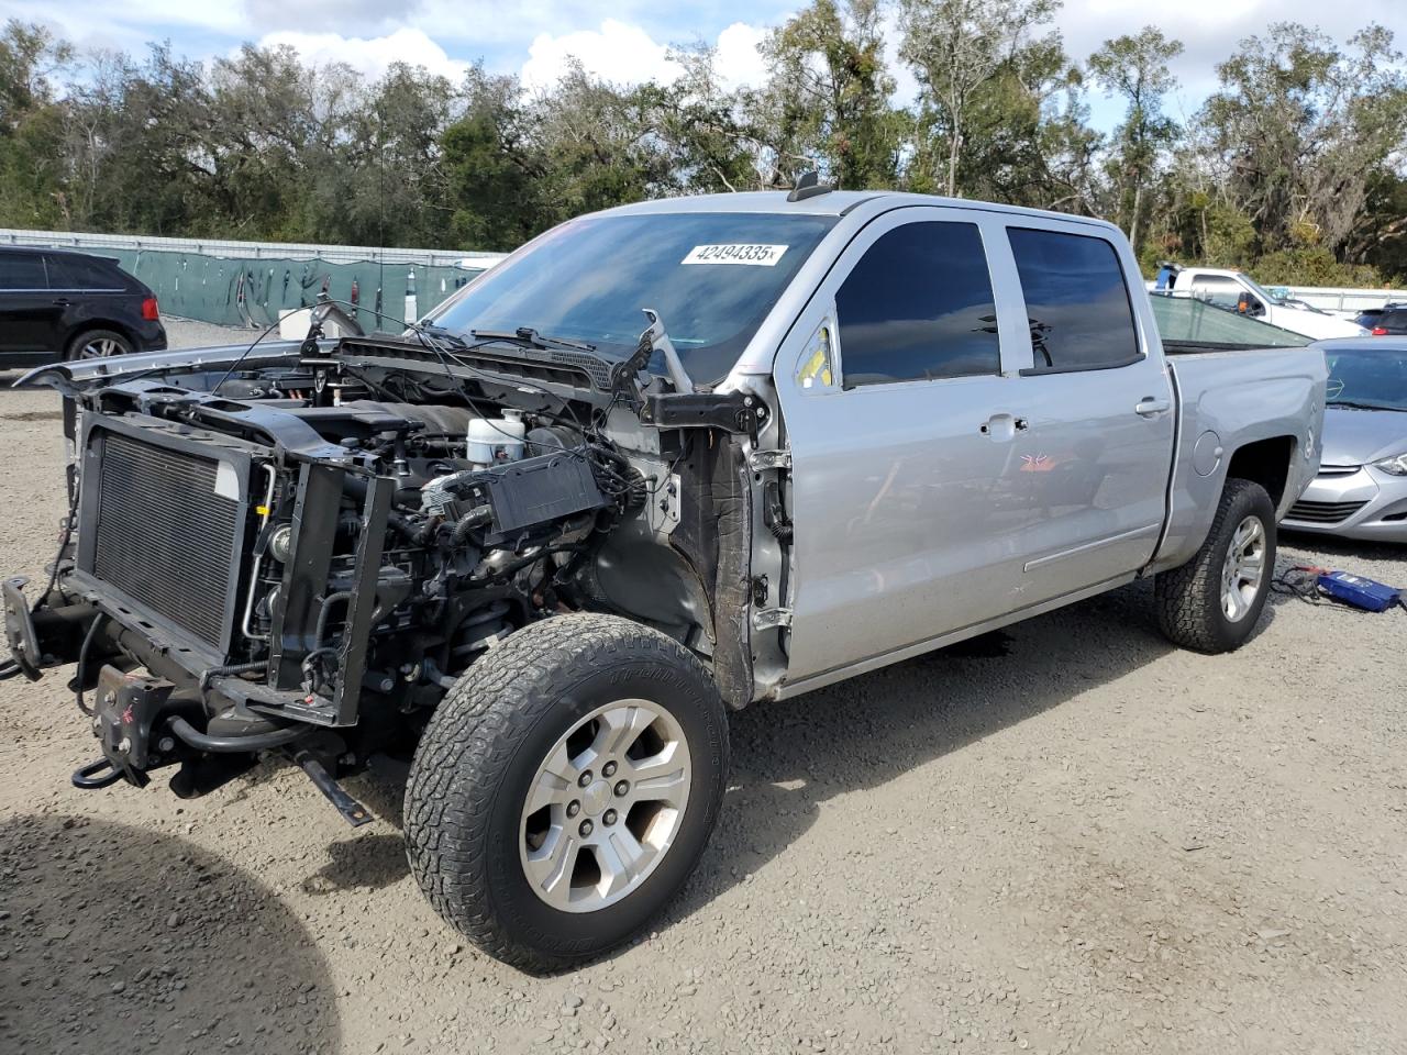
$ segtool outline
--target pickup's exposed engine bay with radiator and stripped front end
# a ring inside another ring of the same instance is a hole
[[[408,750],[470,664],[563,612],[647,623],[747,703],[770,411],[650,376],[650,333],[625,363],[522,333],[310,336],[59,385],[65,544],[6,618],[23,672],[77,660],[103,757],[75,782],[179,764],[193,796],[280,750],[360,823],[336,776]]]

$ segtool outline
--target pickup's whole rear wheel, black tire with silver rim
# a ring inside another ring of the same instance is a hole
[[[1271,495],[1249,480],[1227,480],[1202,549],[1154,580],[1162,632],[1200,653],[1240,648],[1261,618],[1273,570]]]

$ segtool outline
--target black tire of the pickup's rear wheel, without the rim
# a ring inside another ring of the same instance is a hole
[[[1237,526],[1256,516],[1265,530],[1265,571],[1251,610],[1240,620],[1221,608],[1221,568]],[[1275,505],[1265,488],[1249,480],[1227,480],[1211,530],[1196,556],[1180,568],[1159,573],[1154,580],[1158,626],[1173,644],[1199,653],[1227,653],[1240,648],[1255,630],[1275,574]]]

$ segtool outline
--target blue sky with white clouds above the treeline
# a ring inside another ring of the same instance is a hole
[[[37,21],[80,48],[141,53],[170,41],[190,58],[227,55],[245,41],[288,44],[307,60],[340,60],[369,77],[404,60],[457,79],[473,62],[518,73],[529,87],[550,84],[567,56],[616,83],[675,73],[674,44],[718,46],[732,84],[764,76],[757,44],[801,0],[0,0],[0,17]],[[1083,59],[1100,42],[1155,23],[1186,46],[1175,63],[1180,89],[1173,117],[1190,115],[1216,87],[1214,66],[1244,37],[1272,21],[1300,21],[1345,41],[1369,23],[1393,30],[1407,49],[1407,0],[1067,0],[1055,20],[1067,51]],[[899,101],[912,97],[912,75],[891,39]],[[1090,93],[1096,127],[1112,128],[1114,100]]]

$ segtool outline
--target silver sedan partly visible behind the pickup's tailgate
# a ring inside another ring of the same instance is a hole
[[[1407,542],[1407,338],[1318,347],[1328,363],[1323,460],[1285,526]]]

